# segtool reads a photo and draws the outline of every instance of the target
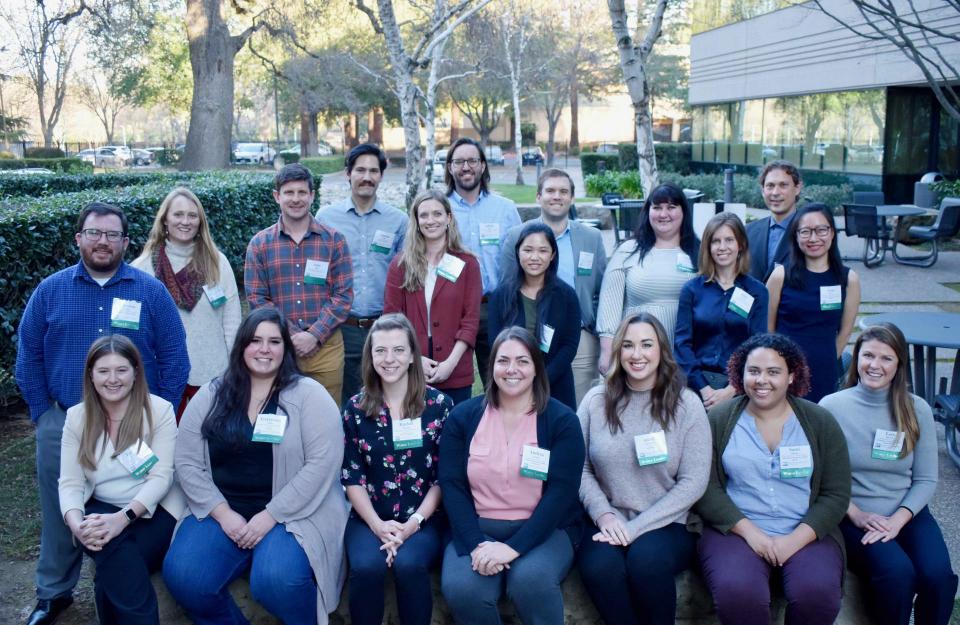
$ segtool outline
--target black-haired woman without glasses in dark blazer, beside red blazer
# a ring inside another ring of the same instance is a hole
[[[571,365],[580,345],[580,302],[576,291],[557,277],[560,254],[553,230],[543,222],[525,224],[514,253],[517,272],[504,276],[490,295],[488,333],[526,328],[544,353],[550,396],[576,410]]]

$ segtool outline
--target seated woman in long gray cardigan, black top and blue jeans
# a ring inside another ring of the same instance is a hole
[[[287,625],[326,625],[344,576],[343,431],[324,388],[300,375],[280,313],[241,324],[224,375],[187,406],[175,455],[190,515],[164,581],[198,625],[246,622],[230,582]]]

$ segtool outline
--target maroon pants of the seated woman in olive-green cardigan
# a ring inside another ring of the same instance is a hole
[[[724,625],[770,623],[770,576],[777,567],[736,534],[704,528],[700,564]],[[786,625],[830,625],[840,613],[843,556],[830,537],[814,541],[779,567]]]

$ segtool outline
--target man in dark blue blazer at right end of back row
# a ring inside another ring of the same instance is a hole
[[[790,242],[784,235],[797,213],[803,191],[800,170],[790,161],[771,161],[760,171],[760,188],[770,216],[747,224],[747,240],[750,275],[766,282],[773,268],[784,264],[790,253]]]

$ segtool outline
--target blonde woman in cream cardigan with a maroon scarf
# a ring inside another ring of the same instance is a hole
[[[179,420],[200,386],[227,368],[240,327],[236,277],[210,236],[200,200],[186,187],[164,198],[143,252],[131,265],[167,287],[187,331],[190,376]]]

